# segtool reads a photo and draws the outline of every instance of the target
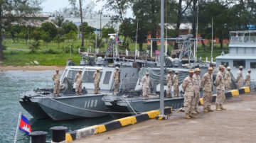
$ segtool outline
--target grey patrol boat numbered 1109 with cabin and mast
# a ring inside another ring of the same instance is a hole
[[[53,88],[36,89],[20,93],[19,103],[33,118],[50,117],[53,120],[69,120],[75,118],[97,118],[108,115],[103,96],[112,94],[114,89],[113,74],[119,67],[119,91],[135,88],[138,79],[137,65],[120,59],[117,43],[109,42],[105,58],[82,54],[78,65],[68,62],[60,77],[60,96],[54,98]],[[85,60],[87,58],[87,60]],[[111,65],[109,65],[111,64]],[[75,95],[75,74],[82,70],[82,95]],[[100,93],[94,93],[92,75],[100,69]],[[125,86],[124,86],[125,84]]]

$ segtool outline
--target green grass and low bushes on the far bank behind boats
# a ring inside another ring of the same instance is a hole
[[[4,50],[4,65],[9,66],[25,66],[26,63],[29,63],[31,61],[38,61],[40,65],[44,66],[50,66],[50,65],[57,65],[57,66],[64,66],[68,59],[70,59],[70,53],[68,49],[68,53],[65,53],[65,50],[63,47],[68,47],[69,45],[73,45],[73,52],[71,55],[71,59],[73,61],[80,61],[80,55],[78,54],[78,47],[81,44],[81,40],[76,41],[65,41],[63,43],[60,43],[60,47],[58,48],[58,44],[55,42],[48,43],[48,46],[46,47],[46,44],[43,41],[41,42],[40,50],[38,50],[35,53],[27,52],[27,51],[19,51],[19,50]],[[26,44],[25,40],[19,40],[18,42],[13,42],[12,40],[4,40],[3,44],[6,45],[8,48],[17,48],[17,49],[28,49],[28,45]],[[87,48],[89,48],[91,43],[88,40],[85,40],[85,50],[87,51]],[[100,51],[104,51],[107,47],[107,43],[105,43],[105,46],[100,49]],[[143,49],[150,51],[150,45],[147,45],[144,43]],[[224,45],[224,52],[228,52],[228,45]],[[164,47],[165,48],[165,47]],[[92,47],[92,50],[95,48]],[[137,45],[137,49],[139,50],[139,45]],[[158,45],[158,50],[160,50],[160,45]],[[129,50],[134,51],[135,45],[130,44]],[[171,50],[174,50],[173,45],[168,46],[168,51],[171,53]],[[222,51],[220,50],[220,45],[215,45],[213,47],[213,57],[216,57],[220,55]],[[207,46],[206,48],[202,47],[201,45],[198,45],[198,58],[202,57],[203,61],[206,60],[206,57],[208,57],[208,60],[210,60],[210,47]]]

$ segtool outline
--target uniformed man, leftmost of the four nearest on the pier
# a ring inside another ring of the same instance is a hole
[[[192,106],[193,106],[193,98],[195,96],[194,87],[193,87],[193,69],[189,69],[188,76],[184,79],[182,83],[182,88],[184,93],[184,110],[185,110],[185,118],[195,118],[194,115],[191,114]]]

